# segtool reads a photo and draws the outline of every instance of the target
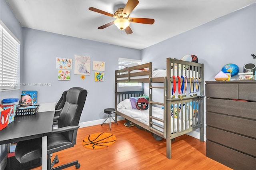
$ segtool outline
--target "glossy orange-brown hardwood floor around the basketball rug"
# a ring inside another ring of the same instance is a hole
[[[172,142],[172,159],[168,159],[166,140],[157,141],[152,134],[135,126],[125,127],[125,121],[118,123],[111,125],[111,131],[108,125],[79,128],[76,145],[57,152],[58,164],[79,160],[80,170],[230,170],[206,157],[206,143],[196,138],[186,134],[176,138]],[[84,148],[83,138],[96,132],[112,133],[116,142],[104,149]],[[40,167],[34,168],[38,169]],[[76,170],[76,167],[66,170]]]

